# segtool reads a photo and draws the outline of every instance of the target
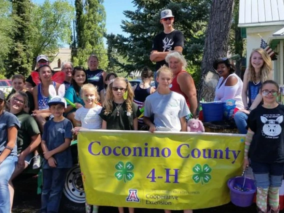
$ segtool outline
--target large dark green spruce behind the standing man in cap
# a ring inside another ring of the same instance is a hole
[[[129,20],[122,20],[121,25],[129,36],[107,35],[109,48],[117,49],[128,63],[122,63],[116,57],[112,57],[113,63],[127,72],[141,69],[145,65],[154,68],[154,64],[149,59],[152,40],[163,30],[159,22],[160,11],[169,8],[174,14],[173,27],[184,34],[183,54],[191,68],[200,70],[209,0],[133,0],[132,2],[136,9],[123,12]]]

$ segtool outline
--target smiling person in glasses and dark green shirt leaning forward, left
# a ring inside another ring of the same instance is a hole
[[[34,156],[38,156],[38,152],[33,152],[41,141],[37,123],[31,115],[24,111],[27,101],[28,96],[23,91],[15,92],[9,99],[10,112],[14,114],[20,122],[20,128],[17,131],[16,139],[18,162],[9,180],[10,207],[12,207],[14,196],[12,180],[30,164],[32,158],[33,161],[36,159]]]

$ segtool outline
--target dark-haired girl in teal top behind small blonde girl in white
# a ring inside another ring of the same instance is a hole
[[[75,66],[72,71],[71,85],[67,89],[64,97],[70,102],[75,104],[75,108],[71,106],[67,101],[67,108],[65,108],[66,117],[71,120],[73,126],[76,125],[76,120],[74,119],[75,111],[77,108],[84,106],[84,101],[81,98],[81,86],[87,83],[86,72],[84,67]]]

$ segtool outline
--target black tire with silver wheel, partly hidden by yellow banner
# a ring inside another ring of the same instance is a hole
[[[85,212],[85,192],[81,178],[81,170],[78,165],[74,165],[67,172],[60,212]]]

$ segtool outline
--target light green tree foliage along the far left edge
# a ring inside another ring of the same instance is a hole
[[[0,74],[5,73],[4,61],[12,44],[11,34],[13,33],[14,22],[11,18],[11,2],[0,0]],[[1,78],[3,76],[1,75]]]

